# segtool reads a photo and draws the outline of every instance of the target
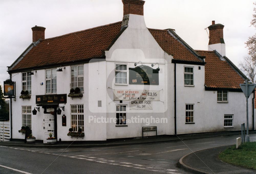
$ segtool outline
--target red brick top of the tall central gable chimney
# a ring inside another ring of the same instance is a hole
[[[124,15],[134,14],[143,16],[143,6],[145,1],[142,0],[122,0],[124,4]]]

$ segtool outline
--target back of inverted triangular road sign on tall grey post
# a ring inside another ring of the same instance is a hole
[[[241,83],[240,87],[246,97],[246,142],[250,142],[249,137],[249,119],[248,119],[248,98],[250,97],[253,89],[255,88],[256,84],[248,84],[248,80],[246,79],[245,83]]]

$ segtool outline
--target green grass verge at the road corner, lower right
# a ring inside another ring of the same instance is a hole
[[[256,169],[256,142],[233,145],[219,154],[219,159],[236,166]]]

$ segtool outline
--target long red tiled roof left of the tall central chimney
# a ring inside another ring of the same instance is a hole
[[[42,40],[12,70],[102,57],[120,30],[116,22]]]

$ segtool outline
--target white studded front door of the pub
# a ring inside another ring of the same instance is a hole
[[[49,133],[53,133],[54,137],[54,115],[44,114],[44,143],[47,143],[46,139],[49,137]]]

